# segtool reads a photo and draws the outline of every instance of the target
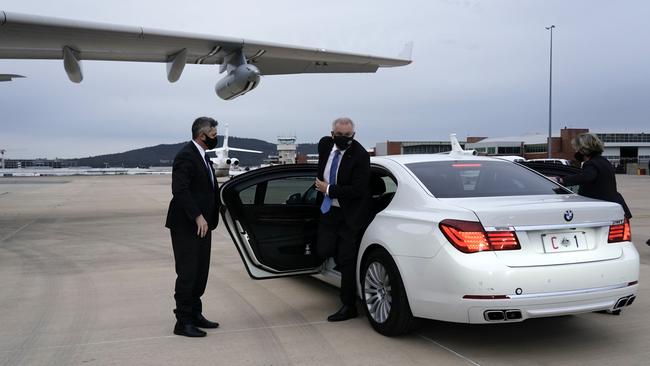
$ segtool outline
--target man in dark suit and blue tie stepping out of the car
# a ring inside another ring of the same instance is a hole
[[[370,156],[354,140],[354,122],[338,118],[332,135],[318,143],[316,190],[323,196],[316,250],[321,258],[334,257],[341,272],[343,306],[328,321],[356,317],[356,261],[359,235],[369,215]]]

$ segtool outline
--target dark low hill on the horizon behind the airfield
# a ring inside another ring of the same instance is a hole
[[[170,166],[176,153],[186,142],[178,144],[162,144],[141,149],[125,151],[122,153],[91,156],[87,158],[69,159],[71,165],[91,166],[93,168],[124,167],[124,168],[147,168],[150,166]],[[223,136],[217,136],[217,146],[223,145]],[[231,156],[239,159],[243,166],[254,166],[263,163],[268,155],[277,155],[275,144],[258,139],[240,138],[230,136],[228,145],[248,150],[259,150],[262,154],[242,153],[232,151]],[[315,154],[316,144],[299,144],[298,154]]]

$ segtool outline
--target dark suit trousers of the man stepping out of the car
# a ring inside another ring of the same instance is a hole
[[[350,227],[345,222],[341,208],[332,206],[329,212],[321,215],[316,253],[323,259],[334,257],[341,273],[341,302],[349,306],[354,306],[357,300],[358,234],[358,229]]]

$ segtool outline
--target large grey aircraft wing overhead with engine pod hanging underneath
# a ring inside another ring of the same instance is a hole
[[[83,78],[81,60],[167,63],[167,78],[171,82],[178,80],[185,64],[220,64],[220,72],[228,71],[229,76],[239,66],[252,65],[247,77],[235,80],[244,84],[254,81],[252,87],[259,81],[259,75],[375,72],[379,67],[411,63],[406,58],[4,11],[0,11],[0,59],[62,59],[74,82]],[[257,79],[253,80],[255,75]],[[224,97],[225,92],[217,93],[223,99],[231,99]]]

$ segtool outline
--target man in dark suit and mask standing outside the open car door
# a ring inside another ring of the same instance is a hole
[[[217,328],[202,314],[201,296],[210,268],[211,231],[219,222],[219,187],[205,150],[217,146],[217,121],[197,118],[192,141],[178,152],[172,169],[172,194],[166,227],[176,262],[174,334],[204,337],[199,328]]]

